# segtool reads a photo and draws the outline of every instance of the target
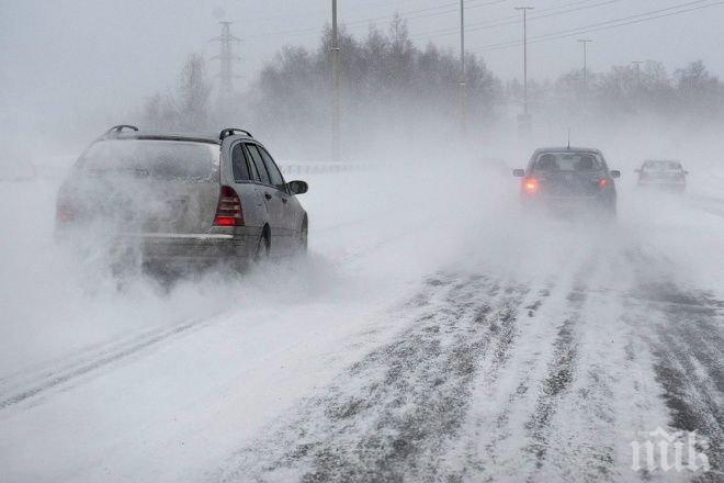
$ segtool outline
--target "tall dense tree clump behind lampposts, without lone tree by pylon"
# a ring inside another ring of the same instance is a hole
[[[382,137],[412,137],[421,130],[445,132],[456,124],[460,61],[452,50],[410,40],[397,18],[388,31],[370,29],[357,40],[342,31],[342,131],[348,143]],[[253,88],[254,111],[262,130],[283,130],[286,138],[307,138],[329,131],[331,32],[316,50],[284,48],[260,74]],[[467,57],[467,101],[471,122],[489,124],[502,100],[501,82],[474,55]],[[364,133],[364,136],[355,134]]]

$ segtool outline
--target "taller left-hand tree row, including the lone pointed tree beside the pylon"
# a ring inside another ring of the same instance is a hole
[[[369,142],[375,132],[406,136],[453,125],[460,104],[460,60],[454,52],[432,44],[419,48],[400,18],[387,31],[371,27],[361,40],[342,29],[339,44],[343,52],[342,130],[348,142],[360,132],[367,134]],[[279,135],[287,143],[303,144],[310,136],[318,137],[318,133],[329,133],[330,52],[329,29],[316,49],[282,48],[244,96],[228,99],[224,105],[212,99],[203,59],[192,55],[178,88],[147,100],[145,124],[207,130],[230,122],[253,125],[265,136]],[[502,83],[475,55],[468,55],[466,61],[471,123],[490,125],[505,99]]]

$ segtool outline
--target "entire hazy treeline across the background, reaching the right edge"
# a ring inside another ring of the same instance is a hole
[[[387,31],[371,27],[364,38],[342,30],[339,43],[343,53],[346,143],[359,143],[361,147],[384,136],[400,138],[425,130],[457,132],[460,60],[453,50],[433,44],[416,46],[400,18]],[[148,99],[145,122],[177,130],[215,130],[222,124],[253,126],[265,138],[283,138],[299,151],[310,137],[329,133],[330,48],[329,29],[316,49],[284,47],[249,90],[220,105],[212,101],[204,59],[191,55],[178,88]],[[495,128],[498,121],[519,112],[520,81],[504,86],[473,54],[466,56],[466,63],[471,125],[478,132]],[[602,120],[644,115],[688,122],[724,119],[724,86],[701,61],[671,74],[655,61],[641,68],[614,66],[608,72],[588,72],[586,88],[582,75],[574,70],[553,81],[530,81],[534,123],[551,113]]]

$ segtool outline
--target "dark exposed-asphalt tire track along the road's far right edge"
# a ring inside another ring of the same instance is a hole
[[[699,288],[685,289],[669,273],[651,273],[646,267],[655,260],[641,251],[629,256],[636,263],[638,281],[631,300],[648,314],[655,377],[670,412],[667,430],[697,431],[708,439],[705,454],[712,471],[695,474],[693,481],[720,482],[724,479],[724,301]]]

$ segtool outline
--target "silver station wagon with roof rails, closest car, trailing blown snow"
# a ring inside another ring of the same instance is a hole
[[[136,249],[145,266],[192,268],[305,250],[308,216],[267,148],[244,130],[218,135],[118,125],[63,183],[56,234]]]

